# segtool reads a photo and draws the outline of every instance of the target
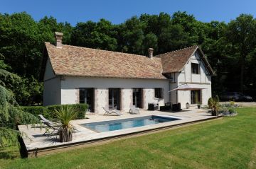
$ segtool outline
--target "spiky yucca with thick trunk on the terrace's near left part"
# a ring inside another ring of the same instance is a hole
[[[64,105],[58,110],[55,110],[55,116],[61,124],[60,128],[58,129],[58,132],[60,134],[60,142],[72,141],[72,133],[74,132],[75,127],[70,124],[70,121],[75,120],[75,117],[77,117],[77,115],[78,111],[76,111],[74,107],[70,107],[68,105]]]

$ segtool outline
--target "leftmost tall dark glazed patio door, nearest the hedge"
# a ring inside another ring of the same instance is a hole
[[[86,103],[89,112],[94,112],[94,98],[94,88],[79,88],[79,103]]]

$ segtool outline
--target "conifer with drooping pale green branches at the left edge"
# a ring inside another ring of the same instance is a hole
[[[27,124],[39,122],[30,113],[18,109],[18,104],[14,99],[14,93],[4,86],[12,86],[12,79],[19,78],[16,74],[6,71],[8,68],[3,60],[0,60],[0,146],[18,143],[17,136],[21,133],[16,130],[17,124]],[[11,81],[10,81],[11,79]]]

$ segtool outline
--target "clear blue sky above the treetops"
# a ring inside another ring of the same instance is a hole
[[[112,23],[122,23],[127,18],[142,13],[159,14],[187,11],[199,21],[225,21],[250,13],[256,16],[255,0],[0,0],[0,13],[26,11],[36,19],[54,16],[58,22],[72,25],[88,20],[105,18]]]

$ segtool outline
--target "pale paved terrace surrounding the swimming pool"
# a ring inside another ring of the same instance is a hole
[[[123,120],[127,118],[134,118],[134,117],[144,117],[149,115],[168,115],[168,116],[175,116],[181,117],[181,120],[171,121],[171,122],[164,122],[159,124],[150,124],[143,127],[134,127],[129,129],[121,129],[111,132],[95,132],[91,129],[87,129],[82,127],[80,124],[90,123],[90,122],[102,122],[102,121],[109,121],[109,120]],[[46,131],[44,128],[40,127],[32,127],[31,125],[20,125],[18,129],[21,132],[24,132],[26,136],[23,136],[23,142],[26,146],[28,151],[28,156],[37,156],[37,153],[40,150],[46,151],[47,149],[54,149],[56,147],[63,148],[63,147],[70,147],[74,145],[81,145],[81,144],[88,144],[90,141],[100,141],[101,139],[104,140],[106,138],[114,138],[118,136],[124,136],[129,134],[135,134],[139,132],[145,132],[154,129],[161,129],[167,128],[171,126],[187,124],[196,121],[203,121],[203,120],[210,120],[213,119],[213,116],[207,112],[207,110],[182,110],[181,112],[161,112],[161,111],[147,111],[147,110],[140,110],[139,115],[130,115],[127,112],[123,112],[121,116],[115,115],[87,115],[88,119],[83,120],[73,120],[71,123],[75,128],[78,130],[73,134],[73,141],[60,143],[58,139],[50,139],[48,136],[44,136],[43,133]],[[36,153],[36,154],[35,154]],[[39,154],[39,153],[38,153]]]

